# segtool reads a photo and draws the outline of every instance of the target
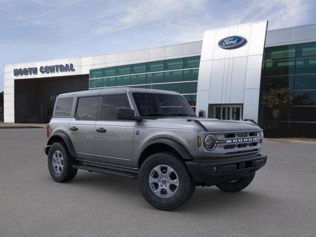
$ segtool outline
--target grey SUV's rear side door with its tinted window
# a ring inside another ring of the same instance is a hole
[[[93,160],[93,134],[99,98],[79,97],[75,118],[69,124],[69,134],[79,159]]]

